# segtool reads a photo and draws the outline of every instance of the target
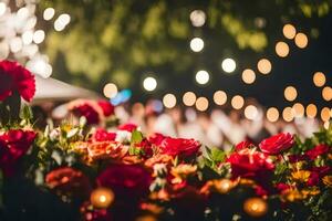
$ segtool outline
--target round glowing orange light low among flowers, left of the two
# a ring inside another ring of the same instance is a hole
[[[90,196],[91,203],[96,208],[108,208],[114,201],[114,193],[107,188],[97,188]]]

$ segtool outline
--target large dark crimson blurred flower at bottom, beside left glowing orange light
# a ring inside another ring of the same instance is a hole
[[[97,177],[97,183],[111,188],[120,200],[146,196],[151,182],[151,173],[138,165],[111,165]]]

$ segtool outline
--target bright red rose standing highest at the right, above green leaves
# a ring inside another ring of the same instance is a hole
[[[289,133],[281,133],[262,140],[259,148],[268,155],[279,155],[291,148],[294,144],[293,136]]]

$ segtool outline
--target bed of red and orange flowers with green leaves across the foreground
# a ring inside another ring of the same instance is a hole
[[[31,101],[32,75],[7,62],[2,77],[13,78],[0,83],[0,220],[332,219],[332,129],[224,151],[135,125],[94,128],[112,106],[80,101],[74,114],[89,117],[38,130],[29,107],[11,112]]]

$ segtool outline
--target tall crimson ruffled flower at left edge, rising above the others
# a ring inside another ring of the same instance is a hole
[[[31,102],[35,93],[34,75],[17,62],[0,62],[0,101],[18,92],[23,99]]]

